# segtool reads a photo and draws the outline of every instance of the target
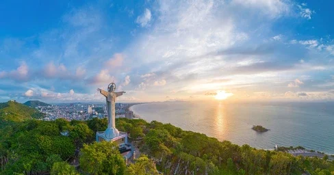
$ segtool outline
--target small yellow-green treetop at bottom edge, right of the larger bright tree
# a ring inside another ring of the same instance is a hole
[[[155,163],[150,160],[145,155],[142,155],[140,158],[136,159],[136,163],[130,164],[125,171],[127,175],[158,175],[157,168]]]

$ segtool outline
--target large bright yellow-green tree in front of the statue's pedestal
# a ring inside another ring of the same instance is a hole
[[[112,142],[84,144],[79,158],[80,167],[89,174],[124,174],[125,161]]]

